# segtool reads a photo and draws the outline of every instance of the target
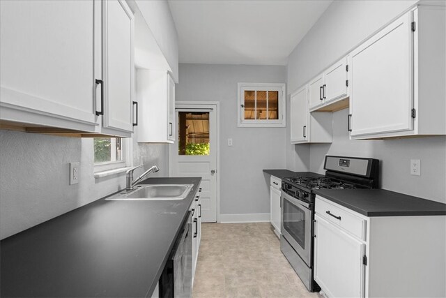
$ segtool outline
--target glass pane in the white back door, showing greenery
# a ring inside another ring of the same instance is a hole
[[[178,112],[178,155],[209,155],[209,112]]]

